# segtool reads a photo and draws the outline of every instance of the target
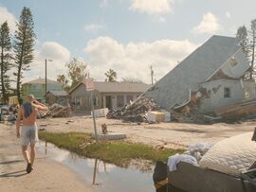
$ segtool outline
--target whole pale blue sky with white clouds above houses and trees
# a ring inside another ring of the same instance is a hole
[[[256,18],[255,0],[0,0],[0,23],[11,26],[25,6],[37,36],[26,79],[44,77],[45,58],[53,59],[49,76],[55,79],[78,57],[95,79],[113,68],[119,80],[149,82],[153,65],[157,80],[211,35],[234,36]]]

